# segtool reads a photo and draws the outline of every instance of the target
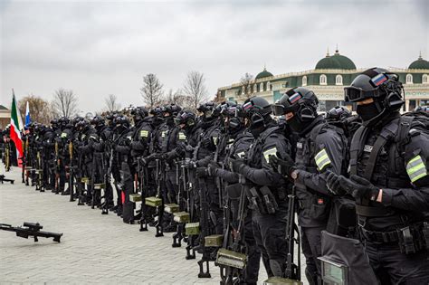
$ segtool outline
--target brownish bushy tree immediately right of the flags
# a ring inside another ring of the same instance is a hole
[[[25,114],[27,102],[30,109],[30,118],[32,121],[48,125],[51,119],[53,119],[52,109],[49,102],[33,94],[25,96],[18,102],[19,111],[21,114]]]

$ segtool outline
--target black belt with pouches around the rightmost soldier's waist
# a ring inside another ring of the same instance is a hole
[[[429,223],[414,223],[390,232],[373,232],[359,227],[368,242],[397,242],[402,253],[410,254],[429,249]]]

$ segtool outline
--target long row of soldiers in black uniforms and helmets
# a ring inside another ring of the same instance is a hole
[[[345,264],[349,284],[424,284],[429,116],[400,115],[402,94],[396,74],[375,68],[345,88],[358,115],[338,106],[322,116],[298,87],[275,104],[207,102],[195,114],[172,103],[33,123],[23,182],[157,237],[174,233],[184,258],[200,254],[198,276],[215,261],[221,284],[256,284],[261,260],[269,277],[300,280],[299,248],[310,284],[338,283],[321,256]]]

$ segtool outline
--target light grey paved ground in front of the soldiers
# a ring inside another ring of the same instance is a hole
[[[198,255],[186,261],[183,245],[171,247],[172,233],[156,238],[154,228],[140,233],[138,224],[122,223],[114,213],[101,215],[68,196],[39,193],[21,184],[16,167],[6,176],[15,183],[0,184],[0,223],[39,222],[43,231],[64,234],[61,243],[33,242],[1,231],[0,284],[219,284],[213,262],[212,278],[197,278]],[[265,279],[261,264],[259,280]]]

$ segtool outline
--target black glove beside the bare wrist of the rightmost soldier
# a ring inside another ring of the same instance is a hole
[[[371,201],[377,199],[379,189],[372,185],[367,179],[360,176],[350,176],[350,179],[339,176],[339,185],[347,191],[349,195],[352,195],[355,199],[363,196],[368,196]]]

